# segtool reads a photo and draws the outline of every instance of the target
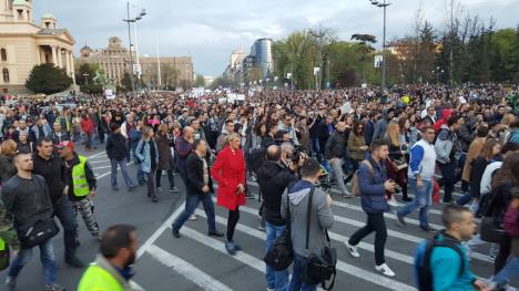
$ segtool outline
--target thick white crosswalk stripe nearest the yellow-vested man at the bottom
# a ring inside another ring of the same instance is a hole
[[[196,285],[199,285],[202,290],[207,290],[207,291],[231,291],[232,290],[231,288],[221,283],[213,277],[201,271],[193,264],[184,261],[183,259],[176,256],[173,256],[172,253],[156,246],[151,246],[147,249],[147,253],[150,253],[155,260],[157,260],[162,264],[184,276],[186,279],[189,279]]]

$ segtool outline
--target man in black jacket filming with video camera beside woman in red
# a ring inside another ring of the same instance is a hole
[[[298,164],[283,165],[282,149],[271,145],[266,152],[266,160],[257,170],[257,184],[263,194],[262,216],[266,220],[266,250],[285,230],[285,220],[281,215],[282,196],[286,187],[297,179]],[[268,290],[287,290],[288,272],[274,271],[266,266],[266,281]]]

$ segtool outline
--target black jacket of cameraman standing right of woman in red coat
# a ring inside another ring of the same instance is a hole
[[[279,163],[266,160],[257,170],[257,184],[263,197],[263,217],[269,224],[285,225],[281,215],[282,196],[297,176]]]

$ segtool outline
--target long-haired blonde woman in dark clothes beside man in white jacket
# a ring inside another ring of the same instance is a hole
[[[407,196],[407,167],[397,168],[399,165],[407,163],[406,154],[407,149],[406,144],[401,142],[400,138],[400,126],[396,122],[390,122],[387,125],[386,135],[384,141],[389,147],[389,157],[386,160],[387,177],[395,180],[401,189],[401,196],[404,201],[410,201]],[[389,205],[398,206],[395,196],[388,194]]]

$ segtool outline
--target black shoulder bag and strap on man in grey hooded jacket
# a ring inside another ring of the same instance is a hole
[[[312,220],[312,204],[314,200],[314,190],[312,188],[308,197],[308,208],[306,210],[306,243],[305,249],[308,250],[309,242],[309,226]],[[328,231],[325,229],[326,246],[320,254],[311,253],[303,264],[303,282],[307,284],[319,284],[323,290],[332,290],[337,274],[335,266],[337,264],[337,250],[332,247]],[[328,287],[326,281],[332,280]]]

